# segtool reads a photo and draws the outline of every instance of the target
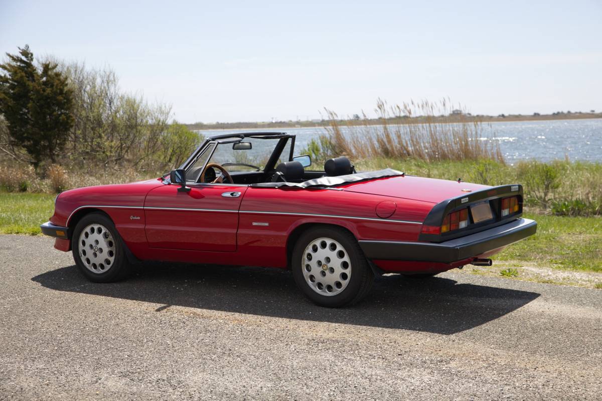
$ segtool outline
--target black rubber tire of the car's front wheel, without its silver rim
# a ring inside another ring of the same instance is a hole
[[[103,273],[91,272],[79,257],[79,235],[81,234],[82,230],[84,230],[84,228],[90,224],[101,224],[107,228],[107,230],[109,230],[111,233],[115,243],[115,260],[113,265]],[[81,271],[82,274],[90,281],[94,281],[95,283],[110,283],[111,281],[120,280],[120,278],[123,277],[125,269],[128,268],[128,261],[126,260],[121,237],[119,236],[119,233],[117,233],[113,221],[101,213],[90,213],[89,215],[85,215],[78,222],[78,224],[75,225],[71,244],[73,260],[75,260],[75,264],[78,266],[79,271]]]

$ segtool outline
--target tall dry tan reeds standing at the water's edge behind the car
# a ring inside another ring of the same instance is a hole
[[[326,109],[329,126],[325,138],[320,138],[321,151],[324,156],[347,155],[355,159],[489,159],[503,163],[499,142],[483,137],[483,122],[453,109],[445,99],[401,105],[389,105],[379,99],[374,109],[379,124],[374,124],[374,119],[365,113],[358,123],[341,120],[334,111]],[[341,129],[343,126],[346,132]],[[312,145],[315,147],[317,142]]]

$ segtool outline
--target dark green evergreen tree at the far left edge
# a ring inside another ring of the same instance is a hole
[[[33,159],[34,166],[56,162],[73,126],[73,96],[67,79],[53,63],[34,65],[29,46],[18,55],[8,54],[0,64],[0,113],[11,140]]]

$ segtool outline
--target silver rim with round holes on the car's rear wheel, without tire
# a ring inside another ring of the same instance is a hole
[[[332,238],[312,240],[303,251],[301,268],[309,288],[320,295],[341,293],[351,279],[351,260],[347,249]]]

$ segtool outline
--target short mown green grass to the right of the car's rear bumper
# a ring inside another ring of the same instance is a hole
[[[537,234],[508,246],[495,260],[602,272],[602,218],[560,217],[526,213],[537,221]]]

